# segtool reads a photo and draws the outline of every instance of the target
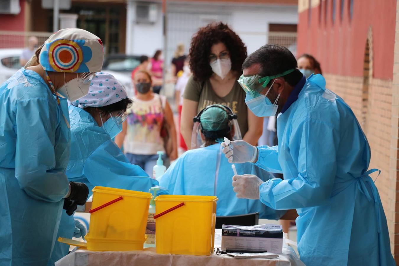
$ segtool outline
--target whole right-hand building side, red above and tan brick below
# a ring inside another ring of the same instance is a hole
[[[299,0],[298,55],[320,61],[328,89],[356,114],[399,264],[399,22],[397,0]],[[376,177],[376,176],[375,176]]]

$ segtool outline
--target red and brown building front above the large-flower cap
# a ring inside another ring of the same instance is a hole
[[[43,8],[42,0],[19,0],[19,5],[18,14],[0,14],[0,48],[24,47],[24,33],[32,33],[42,42],[53,32],[53,10]],[[63,14],[75,14],[75,27],[99,36],[106,54],[125,53],[125,0],[72,0],[68,9],[60,9],[60,26]]]

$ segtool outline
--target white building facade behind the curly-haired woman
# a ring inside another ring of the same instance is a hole
[[[190,47],[192,35],[210,22],[225,22],[237,32],[248,53],[268,42],[296,50],[297,0],[168,0],[166,55],[176,45]],[[148,15],[142,16],[143,10]],[[151,56],[163,49],[162,1],[127,0],[126,53]]]

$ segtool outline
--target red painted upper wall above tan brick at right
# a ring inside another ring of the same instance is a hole
[[[332,22],[332,0],[299,14],[298,55],[310,53],[320,61],[324,73],[363,76],[364,51],[369,27],[373,39],[373,77],[392,79],[395,44],[396,0],[354,0],[350,19],[349,2],[336,0]],[[325,5],[329,4],[327,16]],[[320,17],[320,11],[321,17]]]

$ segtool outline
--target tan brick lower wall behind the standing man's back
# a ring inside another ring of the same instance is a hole
[[[399,56],[398,56],[399,61]],[[398,62],[399,63],[399,62]],[[372,69],[370,69],[372,71]],[[396,142],[392,136],[392,125],[396,121],[399,110],[399,95],[397,103],[393,102],[393,82],[390,80],[368,79],[368,86],[364,84],[363,77],[351,77],[325,74],[327,88],[342,97],[352,108],[358,118],[370,144],[371,161],[369,169],[381,170],[375,185],[378,188],[387,217],[391,251],[399,255],[399,202],[396,202],[397,175],[396,161],[398,157],[397,137]],[[398,77],[399,81],[399,77]],[[399,87],[399,85],[398,85]],[[366,96],[366,97],[365,97]],[[367,108],[363,108],[363,105]],[[395,111],[395,113],[394,113]],[[394,117],[396,114],[396,117]],[[396,132],[397,134],[397,132]],[[394,151],[394,153],[392,153]],[[394,169],[392,169],[394,165]],[[375,178],[377,175],[372,175]],[[399,263],[399,256],[395,256]]]

